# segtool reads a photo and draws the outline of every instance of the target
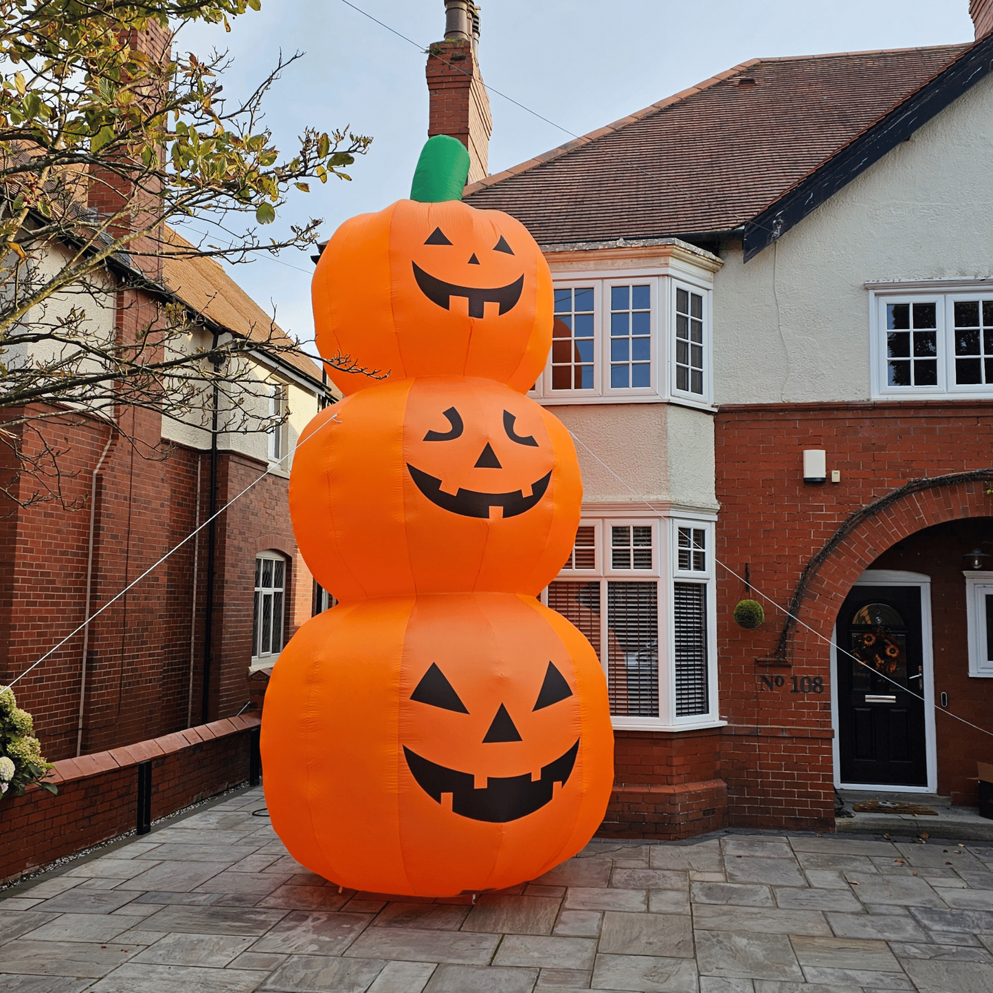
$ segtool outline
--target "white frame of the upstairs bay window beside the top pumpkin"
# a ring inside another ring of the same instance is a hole
[[[591,389],[552,389],[552,360],[548,361],[534,387],[528,392],[545,405],[585,403],[677,402],[713,409],[713,329],[712,282],[691,271],[672,272],[668,268],[627,271],[553,272],[556,289],[593,287],[594,290],[594,378]],[[611,386],[611,288],[649,286],[651,294],[651,382],[649,386]],[[703,297],[704,391],[702,394],[675,389],[675,290]],[[554,348],[554,346],[553,346]]]

